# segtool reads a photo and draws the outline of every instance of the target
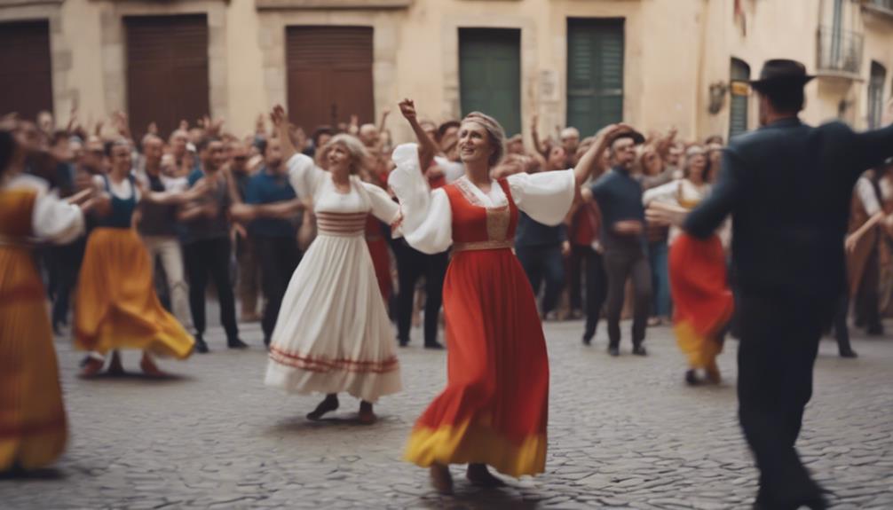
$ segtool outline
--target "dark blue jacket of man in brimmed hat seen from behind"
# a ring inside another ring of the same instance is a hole
[[[732,215],[732,270],[745,295],[837,298],[853,185],[891,155],[893,126],[857,134],[781,119],[732,139],[713,193],[684,228],[705,238]]]

